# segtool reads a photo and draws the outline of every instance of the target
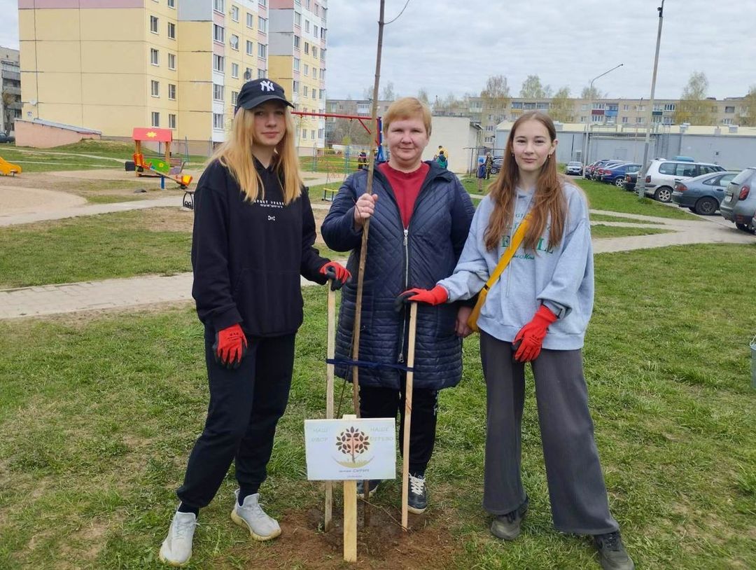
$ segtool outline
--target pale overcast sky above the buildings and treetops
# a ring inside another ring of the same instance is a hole
[[[208,0],[209,2],[209,0]],[[406,0],[386,0],[386,21]],[[383,35],[381,87],[431,99],[478,94],[488,76],[510,93],[535,74],[579,96],[590,79],[610,98],[648,98],[661,0],[410,0]],[[375,76],[379,0],[329,0],[329,98],[361,98]],[[0,0],[0,45],[18,47],[17,0]],[[754,0],[667,0],[657,98],[679,98],[694,71],[708,95],[738,97],[756,85]]]

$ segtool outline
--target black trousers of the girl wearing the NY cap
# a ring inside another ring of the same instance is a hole
[[[215,333],[206,330],[205,361],[210,404],[202,435],[189,456],[178,498],[206,506],[223,482],[231,461],[242,491],[256,493],[267,475],[276,424],[289,401],[295,335],[251,339],[237,370],[215,363]]]

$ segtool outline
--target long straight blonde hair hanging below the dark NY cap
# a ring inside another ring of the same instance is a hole
[[[299,157],[294,145],[294,120],[289,107],[284,107],[284,109],[286,132],[280,143],[276,145],[273,163],[277,174],[283,179],[283,203],[288,204],[302,194],[302,177],[299,175]],[[254,125],[255,110],[240,108],[234,116],[234,122],[231,123],[230,137],[209,158],[209,162],[218,160],[228,168],[250,202],[254,202],[259,197],[265,198],[262,178],[253,160],[252,147],[256,143]]]

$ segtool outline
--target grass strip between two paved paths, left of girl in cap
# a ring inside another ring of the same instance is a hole
[[[172,216],[186,220],[180,229]],[[191,213],[176,208],[0,228],[0,287],[191,271],[190,228]]]

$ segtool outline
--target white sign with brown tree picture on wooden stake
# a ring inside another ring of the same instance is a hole
[[[305,420],[307,479],[395,479],[393,418]]]

